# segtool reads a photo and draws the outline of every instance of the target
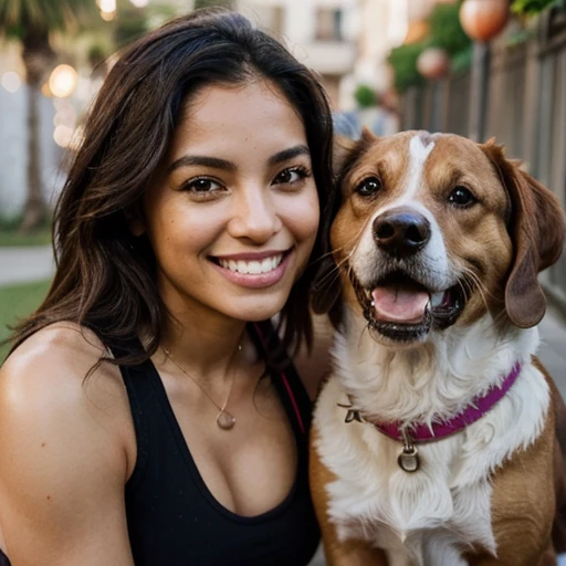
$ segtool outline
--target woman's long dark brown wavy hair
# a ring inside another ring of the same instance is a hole
[[[156,350],[167,313],[149,242],[132,235],[126,212],[139,206],[187,97],[258,77],[275,84],[304,123],[323,218],[332,190],[332,116],[316,76],[237,12],[205,9],[175,19],[122,54],[88,113],[55,208],[55,276],[40,308],[15,328],[12,349],[51,323],[71,321],[109,346],[147,329],[147,352],[115,364],[138,364]],[[318,238],[281,313],[284,347],[312,343],[308,298],[321,249]]]

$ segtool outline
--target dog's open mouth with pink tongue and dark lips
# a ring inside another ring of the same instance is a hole
[[[369,290],[353,284],[369,329],[396,342],[415,342],[431,328],[448,328],[468,295],[463,283],[434,292],[401,272],[388,274]]]

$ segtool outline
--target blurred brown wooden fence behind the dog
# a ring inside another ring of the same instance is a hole
[[[566,207],[566,12],[545,13],[525,42],[497,39],[490,48],[485,139],[551,188]],[[412,87],[401,106],[402,129],[470,136],[471,74]],[[566,310],[566,253],[541,275]]]

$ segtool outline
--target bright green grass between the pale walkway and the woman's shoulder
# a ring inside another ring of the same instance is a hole
[[[0,342],[11,334],[8,326],[31,314],[48,293],[49,281],[7,285],[0,287]],[[8,345],[0,346],[0,364],[6,358]]]

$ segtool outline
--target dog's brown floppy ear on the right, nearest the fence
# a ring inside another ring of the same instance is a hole
[[[505,286],[505,311],[516,326],[538,324],[546,300],[538,273],[555,263],[564,249],[566,223],[556,196],[520,164],[505,158],[502,146],[490,139],[480,146],[492,161],[511,200],[509,232],[513,264]]]

